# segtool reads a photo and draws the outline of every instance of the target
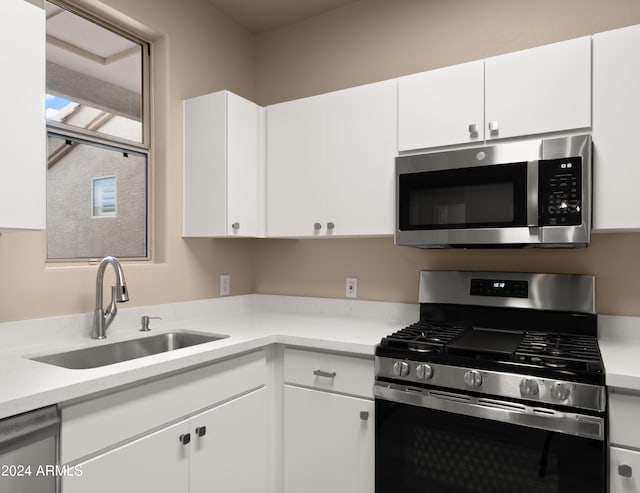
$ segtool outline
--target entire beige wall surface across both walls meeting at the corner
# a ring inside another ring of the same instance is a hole
[[[637,0],[363,0],[251,36],[206,0],[79,0],[153,43],[154,261],[127,263],[131,305],[232,294],[415,302],[424,268],[584,272],[601,313],[640,315],[640,235],[595,236],[586,250],[420,251],[391,239],[181,238],[184,98],[230,89],[270,104],[640,23]],[[0,321],[89,312],[95,266],[47,265],[44,233],[0,237]],[[110,279],[107,279],[110,282]],[[108,290],[107,290],[108,292]]]

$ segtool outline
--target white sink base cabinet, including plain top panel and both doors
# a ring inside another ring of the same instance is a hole
[[[271,493],[267,374],[258,351],[62,405],[62,493]]]

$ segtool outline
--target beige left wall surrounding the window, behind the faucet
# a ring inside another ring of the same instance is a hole
[[[222,273],[232,276],[232,294],[252,292],[251,241],[181,238],[182,99],[225,88],[254,99],[252,36],[206,0],[79,3],[132,26],[154,42],[156,249],[154,262],[124,266],[130,305],[217,296]],[[44,258],[44,233],[0,236],[0,321],[93,310],[96,267],[46,265]]]

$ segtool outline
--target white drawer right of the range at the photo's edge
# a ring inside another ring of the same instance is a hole
[[[609,441],[615,445],[640,448],[640,396],[609,394]],[[640,469],[638,469],[640,474]]]

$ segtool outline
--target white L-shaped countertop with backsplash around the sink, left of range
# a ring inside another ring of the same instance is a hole
[[[229,303],[231,308],[224,309],[221,309],[223,302],[213,302],[211,307],[204,309],[204,314],[199,313],[203,311],[202,306],[187,310],[184,306],[179,309],[175,306],[132,309],[123,316],[121,311],[118,315],[122,319],[120,328],[109,329],[108,338],[103,341],[90,339],[84,326],[82,330],[70,327],[77,325],[78,320],[86,321],[87,316],[79,319],[77,316],[72,322],[67,319],[73,317],[63,317],[66,322],[51,319],[46,331],[47,320],[0,324],[0,345],[5,347],[0,351],[0,418],[179,372],[274,343],[373,356],[375,345],[383,336],[418,318],[417,305],[256,295],[235,298],[244,299],[233,300]],[[278,306],[274,307],[274,304]],[[180,310],[185,313],[175,316]],[[167,316],[167,311],[173,312],[173,316]],[[150,332],[137,331],[140,313],[156,315],[159,312],[163,313],[164,320],[152,320]],[[2,327],[7,325],[11,327]],[[16,335],[17,330],[21,331],[20,335]],[[27,359],[172,330],[195,330],[229,337],[86,370],[66,369]],[[31,337],[25,332],[30,332]],[[69,337],[69,333],[73,337]],[[41,342],[33,344],[33,337]],[[9,343],[11,347],[7,347]]]

